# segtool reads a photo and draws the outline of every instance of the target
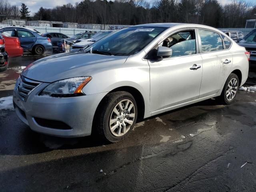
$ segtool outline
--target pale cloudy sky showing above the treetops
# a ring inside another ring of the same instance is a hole
[[[147,0],[148,2],[154,2],[155,0]],[[232,0],[219,0],[222,4],[226,4],[231,2]],[[31,13],[37,12],[37,10],[42,6],[44,8],[53,8],[54,6],[57,5],[63,5],[63,4],[68,4],[72,3],[75,4],[76,2],[81,2],[81,0],[12,0],[9,1],[13,5],[20,6],[22,3],[25,3],[28,6],[28,9],[31,11]],[[255,0],[247,0],[247,2],[254,2]]]

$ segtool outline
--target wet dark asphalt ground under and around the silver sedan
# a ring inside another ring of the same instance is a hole
[[[38,58],[12,58],[0,73],[0,98]],[[148,118],[116,144],[38,134],[0,110],[0,191],[255,192],[256,93]]]

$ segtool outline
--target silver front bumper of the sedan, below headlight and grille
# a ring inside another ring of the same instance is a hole
[[[70,98],[38,96],[47,85],[48,83],[42,83],[32,90],[26,101],[20,98],[17,87],[14,88],[14,108],[20,120],[32,130],[52,136],[90,135],[94,113],[106,93]],[[48,122],[54,122],[55,125],[51,126],[53,124]]]

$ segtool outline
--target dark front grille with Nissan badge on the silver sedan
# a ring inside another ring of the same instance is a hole
[[[28,94],[30,94],[30,92],[34,90],[34,88],[36,88],[39,84],[40,82],[36,82],[30,79],[27,79],[23,76],[20,76],[20,78],[18,79],[18,82],[16,83],[16,90],[20,98],[23,101],[25,101]]]

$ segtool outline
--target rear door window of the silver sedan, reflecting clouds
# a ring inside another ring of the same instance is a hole
[[[198,30],[201,39],[202,53],[223,50],[223,43],[220,35],[213,31]]]

